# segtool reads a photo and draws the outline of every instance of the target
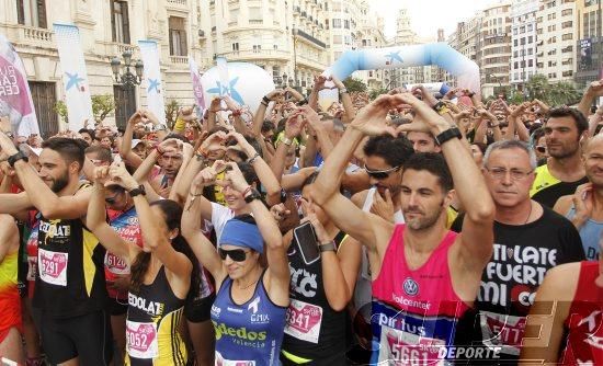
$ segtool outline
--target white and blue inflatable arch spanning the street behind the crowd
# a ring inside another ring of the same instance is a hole
[[[480,93],[479,67],[445,43],[346,50],[325,71],[343,80],[357,70],[436,65],[457,78],[459,88]]]

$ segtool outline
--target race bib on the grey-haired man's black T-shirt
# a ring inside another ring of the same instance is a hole
[[[525,317],[480,311],[479,323],[485,345],[502,347],[501,353],[520,355]]]

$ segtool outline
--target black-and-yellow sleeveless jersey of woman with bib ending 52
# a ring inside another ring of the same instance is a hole
[[[128,294],[126,366],[184,366],[186,346],[178,332],[184,299],[179,299],[162,265],[152,284]]]

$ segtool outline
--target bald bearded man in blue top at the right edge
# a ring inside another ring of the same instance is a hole
[[[579,185],[574,194],[560,197],[554,209],[571,220],[580,232],[587,260],[596,261],[603,230],[603,135],[587,144],[582,164],[589,182]]]

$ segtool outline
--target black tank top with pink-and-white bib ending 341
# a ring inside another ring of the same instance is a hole
[[[338,233],[339,245],[345,235]],[[346,311],[329,306],[322,285],[321,259],[306,264],[295,237],[287,251],[291,270],[291,305],[283,339],[283,351],[312,365],[344,365]],[[339,361],[339,363],[338,363]]]

